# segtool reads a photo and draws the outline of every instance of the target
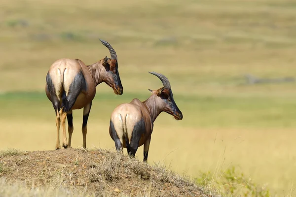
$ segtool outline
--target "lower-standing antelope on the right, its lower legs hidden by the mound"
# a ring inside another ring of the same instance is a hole
[[[173,98],[169,80],[163,74],[149,72],[157,76],[163,87],[158,90],[148,89],[152,95],[145,101],[133,99],[130,103],[118,105],[111,114],[109,133],[117,151],[122,147],[130,156],[135,157],[138,147],[144,144],[144,162],[148,160],[148,151],[153,130],[153,122],[162,112],[182,120],[183,115]]]

